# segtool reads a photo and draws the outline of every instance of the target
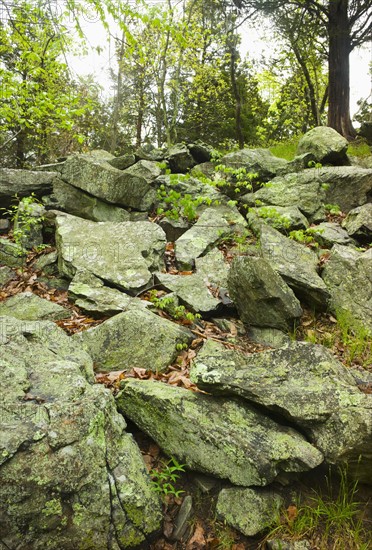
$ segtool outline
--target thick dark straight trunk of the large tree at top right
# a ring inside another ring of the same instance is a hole
[[[328,126],[347,139],[356,132],[350,119],[351,39],[348,19],[348,0],[329,0],[329,108]]]

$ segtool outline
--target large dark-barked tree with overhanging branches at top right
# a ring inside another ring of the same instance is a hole
[[[348,139],[356,132],[350,119],[349,55],[372,39],[372,0],[233,0],[252,15],[258,11],[274,21],[282,10],[301,10],[316,18],[328,44],[328,125]],[[306,32],[306,28],[303,29]]]

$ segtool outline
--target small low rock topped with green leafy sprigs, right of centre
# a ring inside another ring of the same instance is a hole
[[[275,229],[293,231],[307,229],[309,222],[297,206],[259,206],[248,212],[248,223],[252,216],[258,216]]]

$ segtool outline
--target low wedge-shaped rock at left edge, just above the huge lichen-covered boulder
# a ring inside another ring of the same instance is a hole
[[[20,292],[0,302],[0,316],[10,315],[27,321],[59,321],[71,317],[71,311],[40,298],[32,292]]]

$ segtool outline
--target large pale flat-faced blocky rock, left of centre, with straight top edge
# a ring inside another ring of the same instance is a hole
[[[60,272],[70,279],[85,269],[109,284],[137,293],[163,267],[165,234],[150,222],[91,222],[57,213]]]

